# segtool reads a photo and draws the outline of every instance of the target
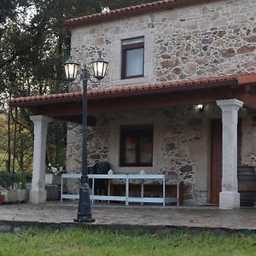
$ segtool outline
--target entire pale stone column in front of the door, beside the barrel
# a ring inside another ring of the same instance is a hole
[[[238,110],[243,102],[236,99],[217,101],[222,110],[222,192],[219,193],[219,208],[240,207],[237,192],[237,123]]]

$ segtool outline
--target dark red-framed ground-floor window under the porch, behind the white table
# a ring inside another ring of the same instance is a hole
[[[153,125],[120,127],[120,166],[153,165]]]

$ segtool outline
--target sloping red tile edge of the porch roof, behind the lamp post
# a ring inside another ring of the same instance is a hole
[[[159,84],[137,84],[93,89],[88,91],[88,100],[90,101],[102,98],[116,98],[149,94],[152,95],[172,91],[200,90],[212,87],[223,87],[233,85],[238,86],[240,84],[252,83],[256,83],[256,73],[238,73],[234,75],[225,75],[213,78],[189,79]],[[50,103],[55,104],[61,102],[78,101],[82,101],[81,92],[67,92],[53,95],[13,98],[9,100],[9,106],[26,108]]]

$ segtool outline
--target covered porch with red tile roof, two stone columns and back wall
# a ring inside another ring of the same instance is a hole
[[[108,160],[116,173],[133,173],[142,169],[149,173],[176,172],[186,181],[188,188],[185,196],[189,204],[194,201],[195,204],[219,202],[219,207],[223,209],[240,207],[237,162],[247,165],[256,151],[252,151],[250,145],[237,143],[237,124],[238,117],[247,123],[247,117],[253,116],[256,108],[256,97],[253,96],[255,82],[256,75],[247,73],[90,90],[88,122],[92,129],[92,141],[88,148],[92,152],[91,160]],[[81,124],[82,94],[30,96],[12,99],[9,104],[32,111],[34,160],[30,201],[42,203],[46,200],[47,125],[52,119]],[[194,106],[197,104],[203,104],[204,111],[196,111]],[[238,115],[241,108],[243,110]],[[221,120],[222,123],[220,157],[213,154],[215,151],[212,148],[213,131],[217,129],[214,120]],[[153,124],[154,127],[152,166],[120,166],[120,126],[143,124]],[[242,126],[242,140],[245,141],[253,129]],[[73,147],[79,140],[79,126],[69,125],[67,136],[70,137],[67,140],[67,172],[79,172],[79,161],[74,160],[79,155],[73,158],[74,154],[78,154]],[[77,140],[73,141],[72,137]],[[95,150],[100,141],[101,147]]]

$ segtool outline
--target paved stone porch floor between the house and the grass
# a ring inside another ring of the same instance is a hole
[[[45,204],[5,204],[0,206],[0,224],[28,223],[72,224],[78,209],[77,201],[47,201]],[[152,205],[92,205],[93,225],[145,228],[200,228],[256,230],[256,208],[220,210],[218,207],[160,207]]]

